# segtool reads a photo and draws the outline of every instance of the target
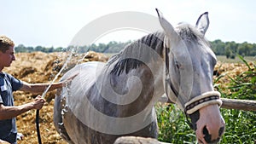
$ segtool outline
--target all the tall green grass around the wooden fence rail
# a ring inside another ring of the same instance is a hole
[[[236,78],[230,78],[231,82],[226,86],[216,84],[216,89],[225,98],[256,101],[256,66],[252,67],[247,64],[247,61],[255,60],[253,57],[250,60],[239,55],[236,57],[248,66],[248,71],[242,72]],[[218,83],[218,79],[215,79],[215,83]],[[231,93],[226,94],[226,89],[230,89]],[[175,105],[158,104],[156,110],[160,128],[159,141],[175,144],[196,143],[195,132],[189,129],[183,112],[178,110]],[[256,143],[256,112],[224,108],[221,108],[220,111],[226,123],[221,144]]]

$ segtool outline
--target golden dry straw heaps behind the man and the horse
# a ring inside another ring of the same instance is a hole
[[[28,83],[50,83],[55,75],[60,71],[64,62],[67,60],[66,53],[50,53],[45,54],[42,52],[35,53],[19,53],[16,54],[16,60],[9,68],[5,68],[3,72],[9,72],[15,78],[20,78]],[[76,63],[87,62],[91,60],[106,61],[108,57],[106,55],[90,52],[84,59],[81,59],[84,55],[73,55],[74,59],[71,60],[71,64],[68,66],[74,66]],[[241,72],[247,70],[247,66],[243,64],[228,64],[218,62],[215,67],[218,75],[229,73],[230,76],[235,76]],[[65,71],[64,71],[65,72]],[[58,79],[57,79],[58,80]],[[229,78],[221,78],[220,84],[228,83]],[[15,105],[21,105],[28,101],[32,101],[33,97],[30,93],[15,92]],[[67,142],[61,139],[61,136],[56,132],[53,124],[53,106],[54,106],[55,91],[49,92],[46,95],[45,106],[40,110],[40,131],[43,143],[48,144],[66,144]],[[32,110],[25,112],[17,117],[18,131],[25,137],[22,141],[18,141],[19,144],[36,144],[38,143],[37,130],[35,124],[36,111]]]

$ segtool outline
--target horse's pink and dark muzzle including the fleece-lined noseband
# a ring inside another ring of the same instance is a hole
[[[191,128],[200,143],[218,143],[224,134],[221,104],[218,91],[203,93],[185,104],[184,112],[191,118]]]

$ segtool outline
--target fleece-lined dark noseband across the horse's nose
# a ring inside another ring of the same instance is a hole
[[[209,91],[198,95],[189,102],[185,103],[184,112],[187,114],[192,114],[202,107],[207,107],[214,104],[218,104],[219,107],[222,105],[220,93],[218,91]]]

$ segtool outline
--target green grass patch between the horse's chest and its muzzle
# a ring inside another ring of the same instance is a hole
[[[186,117],[175,105],[156,105],[159,141],[169,143],[194,143],[196,141],[195,133],[185,123]]]

